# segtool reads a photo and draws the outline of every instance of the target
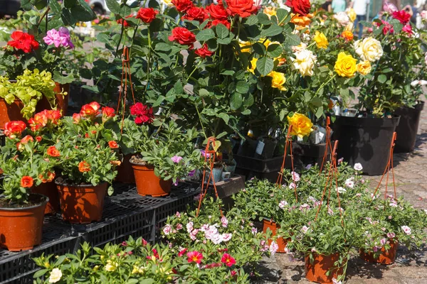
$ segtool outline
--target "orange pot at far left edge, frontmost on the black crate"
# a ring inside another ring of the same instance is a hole
[[[41,244],[43,217],[47,197],[30,195],[39,204],[23,208],[0,208],[0,247],[9,251],[33,249]]]

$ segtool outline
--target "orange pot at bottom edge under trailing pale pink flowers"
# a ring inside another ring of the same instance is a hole
[[[332,283],[332,278],[337,279],[342,275],[343,268],[335,267],[335,261],[339,260],[339,253],[324,256],[321,254],[313,253],[315,260],[313,263],[310,261],[310,256],[305,256],[305,278],[312,282],[317,283]],[[327,275],[327,272],[330,274]]]

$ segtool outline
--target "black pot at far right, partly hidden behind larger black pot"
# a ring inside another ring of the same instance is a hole
[[[394,114],[401,116],[399,125],[396,127],[397,139],[394,146],[395,153],[412,152],[415,148],[416,133],[420,124],[421,111],[424,102],[418,102],[415,107],[401,107]]]

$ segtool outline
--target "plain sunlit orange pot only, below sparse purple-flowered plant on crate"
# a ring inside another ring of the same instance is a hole
[[[157,175],[154,175],[154,167],[152,165],[130,163],[134,170],[135,182],[139,195],[151,195],[153,197],[169,195],[171,192],[172,180],[162,180],[157,177]]]

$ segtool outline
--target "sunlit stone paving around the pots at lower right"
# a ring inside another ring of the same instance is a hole
[[[403,195],[414,207],[427,209],[426,110],[421,113],[415,151],[394,154],[394,174],[397,194]],[[380,178],[369,177],[371,187],[376,187]],[[263,280],[255,283],[310,283],[305,279],[304,261],[302,259],[291,261],[284,253],[276,253],[271,258],[265,258],[262,268]],[[427,246],[412,251],[399,246],[396,263],[390,266],[366,263],[359,258],[352,258],[347,268],[346,283],[427,284]]]

